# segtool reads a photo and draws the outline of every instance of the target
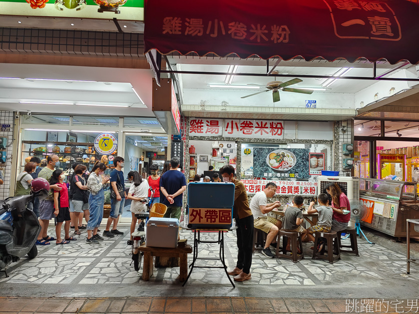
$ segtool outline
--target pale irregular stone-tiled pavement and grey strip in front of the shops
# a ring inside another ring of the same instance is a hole
[[[85,242],[86,231],[71,244],[38,246],[34,259],[23,258],[9,267],[10,277],[0,273],[0,295],[115,297],[115,296],[269,296],[269,297],[374,297],[417,298],[419,267],[411,266],[405,274],[405,255],[381,245],[358,240],[360,256],[342,254],[342,259],[329,264],[311,259],[309,243],[304,243],[305,259],[298,263],[282,258],[266,258],[255,252],[252,279],[232,289],[222,269],[195,268],[182,287],[176,279],[179,268],[155,268],[150,281],[141,279],[130,265],[131,249],[128,227],[124,235],[105,239],[100,245]],[[53,233],[53,229],[50,230]],[[214,238],[205,233],[202,239]],[[192,243],[193,234],[181,230],[181,237]],[[235,232],[228,232],[226,263],[234,267],[237,247]],[[217,246],[201,244],[199,255],[214,256]],[[192,254],[189,254],[189,261]],[[201,261],[202,263],[203,261]],[[215,264],[207,261],[206,264]],[[349,290],[348,290],[349,289]],[[416,296],[416,297],[415,297]],[[2,309],[0,308],[0,311]]]

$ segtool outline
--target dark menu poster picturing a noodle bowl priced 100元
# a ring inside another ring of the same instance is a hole
[[[253,176],[309,178],[307,148],[253,147]]]

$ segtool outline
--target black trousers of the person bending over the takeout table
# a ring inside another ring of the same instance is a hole
[[[245,218],[236,218],[237,223],[237,268],[243,269],[245,273],[250,273],[252,265],[252,245],[253,245],[253,215]]]

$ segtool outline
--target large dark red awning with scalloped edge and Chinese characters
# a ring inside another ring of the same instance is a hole
[[[146,0],[145,52],[419,62],[406,0]]]

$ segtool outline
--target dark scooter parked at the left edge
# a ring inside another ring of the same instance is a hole
[[[28,254],[29,258],[38,255],[35,244],[41,225],[37,215],[27,208],[39,193],[31,193],[6,200],[0,200],[0,271],[6,277],[7,266]],[[48,194],[47,194],[48,195]]]

